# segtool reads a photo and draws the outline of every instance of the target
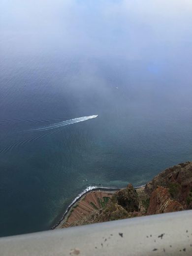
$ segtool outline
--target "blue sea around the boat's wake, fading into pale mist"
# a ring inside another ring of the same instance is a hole
[[[192,160],[191,3],[0,4],[1,236],[49,229],[89,185]]]

